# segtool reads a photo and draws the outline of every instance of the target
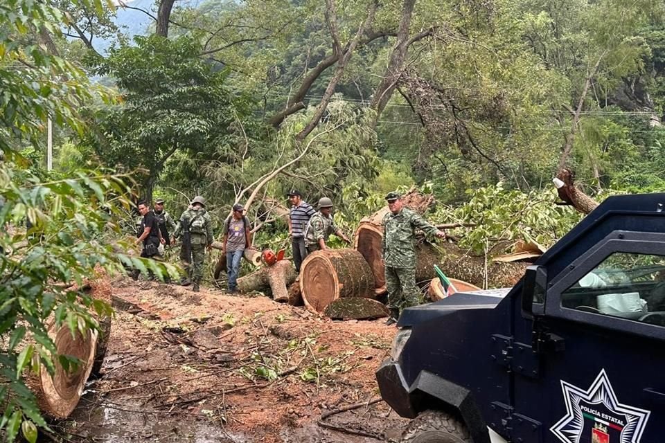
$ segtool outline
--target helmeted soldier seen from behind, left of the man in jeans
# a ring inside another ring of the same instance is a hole
[[[203,278],[203,262],[206,258],[206,248],[210,250],[213,244],[213,229],[211,227],[210,215],[206,212],[206,201],[200,195],[194,197],[191,208],[188,208],[180,216],[180,222],[173,233],[174,237],[180,237],[184,223],[189,226],[192,263],[188,264],[185,262],[183,265],[193,283],[193,290],[198,292]]]

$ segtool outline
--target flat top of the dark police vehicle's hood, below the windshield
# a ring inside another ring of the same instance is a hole
[[[462,309],[494,309],[513,288],[457,292],[437,302],[409,307],[402,311],[398,327],[410,327]]]

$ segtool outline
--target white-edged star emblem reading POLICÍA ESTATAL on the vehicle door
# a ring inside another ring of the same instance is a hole
[[[604,369],[587,390],[563,380],[561,388],[567,414],[550,428],[561,442],[579,443],[585,428],[600,424],[610,426],[619,443],[639,443],[650,411],[619,403]]]

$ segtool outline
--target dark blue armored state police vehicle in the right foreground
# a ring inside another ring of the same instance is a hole
[[[402,442],[665,442],[665,194],[610,197],[512,289],[406,309]]]

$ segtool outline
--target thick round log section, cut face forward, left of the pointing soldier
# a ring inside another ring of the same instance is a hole
[[[305,258],[300,269],[305,307],[321,314],[338,298],[375,298],[372,270],[358,251],[326,249]]]

